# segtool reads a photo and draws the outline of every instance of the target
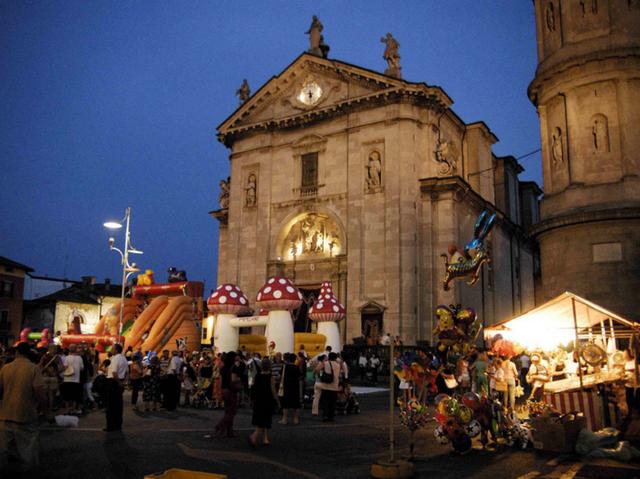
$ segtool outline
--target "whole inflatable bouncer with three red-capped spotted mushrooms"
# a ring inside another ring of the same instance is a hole
[[[216,352],[244,349],[263,355],[300,350],[304,345],[309,354],[324,351],[330,345],[335,352],[342,349],[338,321],[345,317],[345,308],[333,294],[331,283],[322,283],[315,304],[309,310],[312,321],[318,322],[318,333],[294,333],[291,312],[302,304],[302,294],[283,277],[270,278],[260,288],[256,305],[258,316],[251,313],[249,301],[234,284],[221,284],[207,301],[209,311],[216,315],[213,345]],[[264,334],[240,334],[240,328],[264,327]]]

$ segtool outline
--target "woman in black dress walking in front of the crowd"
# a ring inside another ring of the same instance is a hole
[[[258,438],[262,435],[262,444],[269,445],[269,429],[271,429],[273,412],[278,403],[276,395],[276,382],[271,374],[271,360],[264,358],[260,362],[260,373],[256,375],[251,388],[251,401],[253,412],[251,424],[255,430],[249,436],[249,444],[256,446]]]

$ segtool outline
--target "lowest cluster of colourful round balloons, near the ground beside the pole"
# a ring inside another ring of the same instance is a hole
[[[435,398],[436,416],[438,422],[433,432],[440,444],[451,443],[456,452],[467,452],[471,449],[471,438],[481,432],[481,424],[474,419],[475,410],[479,408],[480,397],[475,393],[466,393],[462,400],[452,398],[446,394],[439,394]]]

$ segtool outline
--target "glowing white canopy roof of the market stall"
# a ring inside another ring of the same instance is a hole
[[[484,334],[487,338],[501,334],[504,339],[528,348],[550,349],[573,341],[576,326],[579,336],[594,328],[620,334],[638,327],[636,323],[567,291],[527,313],[485,328]]]

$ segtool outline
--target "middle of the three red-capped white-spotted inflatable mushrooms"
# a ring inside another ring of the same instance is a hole
[[[269,311],[265,336],[270,353],[292,353],[293,320],[291,311],[302,304],[302,294],[287,278],[269,278],[258,291],[258,306]]]

